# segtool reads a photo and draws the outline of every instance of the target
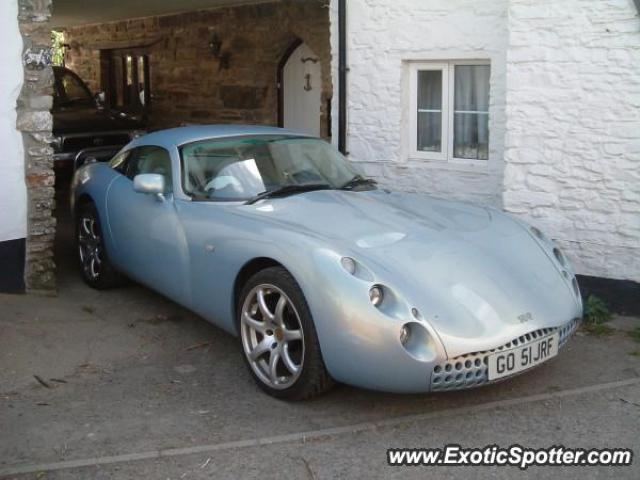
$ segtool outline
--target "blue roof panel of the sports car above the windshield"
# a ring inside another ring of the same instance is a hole
[[[292,132],[284,128],[260,125],[193,125],[148,133],[138,137],[129,145],[132,148],[144,145],[158,145],[170,148],[201,140],[240,137],[245,135],[291,135],[308,137],[308,135]]]

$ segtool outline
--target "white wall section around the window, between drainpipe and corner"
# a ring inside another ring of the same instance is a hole
[[[507,0],[349,0],[348,150],[382,185],[501,205]],[[337,83],[337,2],[331,5]],[[408,153],[408,62],[491,61],[490,159],[461,165]],[[334,95],[333,111],[338,111]],[[337,117],[333,138],[337,139]]]

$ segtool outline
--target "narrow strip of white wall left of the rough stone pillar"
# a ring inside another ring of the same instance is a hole
[[[18,0],[0,2],[0,242],[27,233],[27,188],[16,101],[22,87],[22,37]]]

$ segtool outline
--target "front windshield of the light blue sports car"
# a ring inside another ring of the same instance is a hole
[[[315,138],[254,136],[213,139],[180,149],[182,184],[195,199],[248,200],[290,185],[341,188],[358,172]]]

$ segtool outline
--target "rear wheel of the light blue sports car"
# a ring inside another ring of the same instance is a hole
[[[124,278],[109,261],[98,209],[92,202],[85,203],[78,209],[75,244],[80,273],[87,285],[97,290],[107,290],[123,283]]]

